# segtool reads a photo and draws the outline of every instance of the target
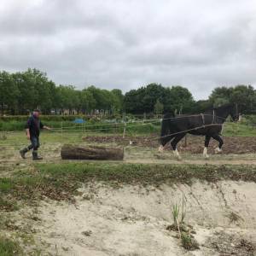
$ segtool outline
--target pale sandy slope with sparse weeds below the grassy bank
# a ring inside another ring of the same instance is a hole
[[[42,201],[38,220],[31,220],[42,255],[256,255],[255,183],[121,189],[93,183],[79,191],[75,205]],[[177,232],[166,230],[172,205],[183,195],[185,222],[193,226],[199,250],[186,251]],[[16,218],[24,224],[22,212]]]

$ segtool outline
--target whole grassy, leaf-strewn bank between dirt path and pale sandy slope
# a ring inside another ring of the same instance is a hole
[[[256,182],[256,166],[143,165],[96,162],[36,164],[12,177],[0,178],[0,209],[15,210],[12,201],[38,201],[44,196],[73,201],[81,183],[102,182],[115,187],[123,184],[160,185],[193,183],[195,179],[217,182],[221,179]],[[11,206],[7,205],[9,203]],[[21,203],[20,203],[21,204]]]

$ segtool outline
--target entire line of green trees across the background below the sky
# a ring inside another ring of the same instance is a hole
[[[200,113],[227,102],[242,106],[245,113],[256,109],[256,90],[251,85],[217,87],[204,101],[196,102],[182,86],[148,84],[125,95],[119,89],[102,90],[91,85],[77,90],[73,85],[56,85],[38,69],[26,72],[0,72],[2,115],[27,114],[33,108],[43,113]]]

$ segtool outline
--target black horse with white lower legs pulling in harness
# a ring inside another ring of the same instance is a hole
[[[222,107],[212,108],[205,113],[194,115],[179,115],[175,117],[174,114],[165,114],[161,125],[161,145],[159,151],[163,151],[166,143],[172,141],[173,153],[178,159],[181,159],[177,152],[177,143],[186,133],[189,133],[206,137],[203,151],[205,158],[209,157],[207,147],[209,146],[211,137],[218,141],[218,148],[215,148],[215,153],[221,152],[224,142],[220,135],[224,121],[229,115],[233,121],[239,119],[239,111],[236,104],[225,104]]]

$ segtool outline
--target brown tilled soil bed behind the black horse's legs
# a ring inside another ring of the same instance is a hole
[[[144,146],[150,148],[159,147],[160,143],[153,134],[148,137],[121,137],[121,136],[101,136],[101,137],[84,137],[84,142],[88,143],[117,143],[119,145],[135,145]],[[183,139],[178,148],[184,152],[190,152],[193,154],[201,154],[204,148],[204,137],[187,137],[187,145]],[[218,146],[216,141],[211,141],[209,146],[209,153],[214,152],[214,148]],[[170,148],[170,147],[166,147]],[[248,154],[256,153],[256,137],[224,137],[224,154]]]

